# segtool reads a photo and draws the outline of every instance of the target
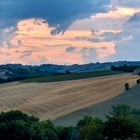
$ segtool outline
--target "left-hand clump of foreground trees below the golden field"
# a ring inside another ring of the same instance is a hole
[[[67,140],[74,127],[57,127],[51,121],[40,122],[38,118],[20,111],[0,114],[1,140]]]

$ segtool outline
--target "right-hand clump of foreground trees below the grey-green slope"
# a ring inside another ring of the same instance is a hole
[[[113,106],[105,120],[85,117],[79,121],[79,140],[139,140],[140,110]]]

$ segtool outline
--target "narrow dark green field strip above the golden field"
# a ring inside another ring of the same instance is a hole
[[[108,75],[115,75],[121,74],[123,72],[119,71],[94,71],[94,72],[81,72],[81,73],[73,73],[68,75],[58,75],[58,76],[48,76],[48,77],[40,77],[40,78],[32,78],[23,80],[22,82],[59,82],[59,81],[67,81],[67,80],[77,80],[77,79],[84,79],[84,78],[92,78],[92,77],[99,77],[99,76],[108,76]]]

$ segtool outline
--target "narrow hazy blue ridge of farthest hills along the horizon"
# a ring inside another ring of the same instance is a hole
[[[6,64],[0,65],[0,69],[4,68],[7,70],[14,71],[18,74],[24,72],[86,72],[86,71],[97,71],[97,70],[109,70],[111,66],[140,66],[140,61],[117,61],[117,62],[105,62],[105,63],[90,63],[85,65],[53,65],[43,64],[39,66],[21,65],[21,64]],[[20,71],[18,71],[20,69]],[[15,71],[16,70],[16,71]]]

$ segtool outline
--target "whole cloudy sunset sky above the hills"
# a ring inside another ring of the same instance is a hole
[[[0,0],[0,64],[140,60],[140,0]]]

